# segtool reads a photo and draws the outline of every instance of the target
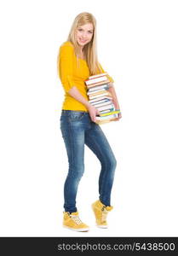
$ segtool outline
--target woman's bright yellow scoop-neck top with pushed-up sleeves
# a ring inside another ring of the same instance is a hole
[[[74,46],[69,41],[61,44],[59,57],[59,76],[65,91],[65,100],[63,102],[62,109],[82,110],[88,112],[88,109],[83,105],[83,103],[78,102],[78,100],[70,96],[68,93],[73,86],[76,86],[80,94],[89,101],[89,97],[87,96],[87,87],[84,83],[85,80],[89,79],[89,67],[87,65],[87,61],[79,59],[79,67],[77,67],[77,56],[74,52]],[[105,73],[102,67],[101,69],[102,73]],[[113,82],[113,79],[109,75],[107,75],[107,77],[111,82]]]

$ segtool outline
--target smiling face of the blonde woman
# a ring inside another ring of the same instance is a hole
[[[76,39],[80,46],[89,44],[93,37],[94,26],[92,23],[85,24],[83,26],[78,26],[76,31]]]

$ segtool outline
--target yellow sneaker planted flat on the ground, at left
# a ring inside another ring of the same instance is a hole
[[[74,231],[89,231],[89,226],[84,224],[78,216],[78,212],[63,212],[63,227]]]

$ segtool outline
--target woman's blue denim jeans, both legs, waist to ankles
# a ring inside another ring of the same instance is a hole
[[[77,212],[78,184],[84,172],[84,144],[100,160],[99,199],[110,206],[112,183],[117,161],[100,125],[84,111],[61,110],[60,130],[68,157],[68,174],[64,185],[65,212]]]

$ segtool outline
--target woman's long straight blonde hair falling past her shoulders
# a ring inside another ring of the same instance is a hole
[[[75,20],[73,21],[71,31],[69,32],[67,41],[71,42],[74,46],[75,54],[78,55],[80,52],[77,39],[75,37],[75,32],[78,29],[78,26],[83,26],[88,23],[93,24],[94,26],[94,32],[93,37],[90,40],[89,44],[84,45],[83,47],[83,55],[85,57],[85,60],[87,61],[88,67],[89,67],[89,73],[90,75],[95,75],[97,73],[101,73],[102,70],[100,68],[100,63],[98,61],[97,56],[97,47],[96,47],[96,20],[94,15],[91,15],[89,13],[83,12],[76,16]]]

